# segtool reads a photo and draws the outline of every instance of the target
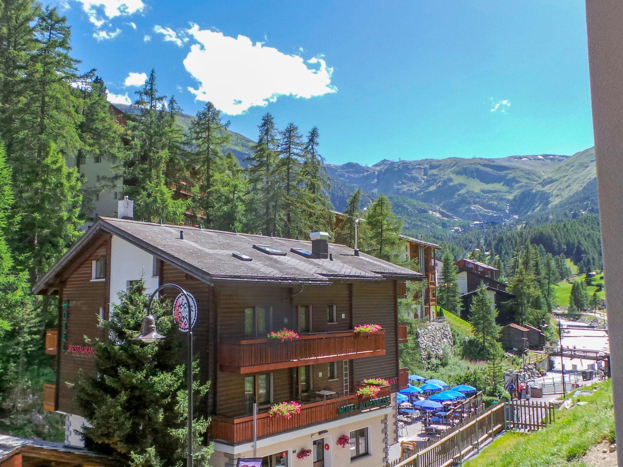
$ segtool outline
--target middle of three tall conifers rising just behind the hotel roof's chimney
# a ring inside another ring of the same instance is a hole
[[[278,209],[273,213],[275,222],[283,212],[283,227],[277,230],[277,235],[294,238],[305,235],[304,222],[306,213],[303,212],[301,203],[301,164],[303,162],[303,141],[298,132],[298,126],[288,123],[288,126],[280,133],[278,146],[278,174],[280,202]],[[274,229],[274,227],[273,227]]]

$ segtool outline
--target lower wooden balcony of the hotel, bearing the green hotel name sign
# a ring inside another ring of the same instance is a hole
[[[384,400],[383,398],[387,398]],[[370,399],[368,399],[370,400]],[[366,407],[364,410],[376,410],[380,407],[387,407],[391,404],[391,392],[389,386],[383,387],[376,398],[371,399],[373,407]],[[336,399],[322,400],[303,404],[301,413],[294,415],[289,420],[283,417],[270,418],[267,412],[257,415],[257,437],[276,435],[277,433],[296,430],[297,428],[317,425],[319,423],[330,422],[338,418],[345,418],[350,415],[361,413],[359,403],[364,402],[356,395],[338,397]],[[353,404],[354,410],[341,410],[338,408]],[[267,409],[265,409],[267,410]],[[212,415],[210,422],[210,436],[212,440],[225,441],[226,443],[238,444],[245,443],[253,439],[253,416],[238,418],[227,418],[219,415]]]

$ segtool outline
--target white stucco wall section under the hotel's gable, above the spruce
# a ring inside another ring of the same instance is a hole
[[[145,292],[158,288],[158,276],[152,276],[153,256],[135,245],[113,235],[110,255],[110,311],[113,303],[119,304],[117,294],[125,291],[128,281],[145,280]]]

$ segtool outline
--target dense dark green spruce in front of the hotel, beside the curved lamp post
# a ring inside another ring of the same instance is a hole
[[[100,321],[110,339],[88,340],[94,348],[93,375],[81,372],[78,404],[89,425],[83,439],[91,450],[113,456],[123,465],[182,467],[186,462],[185,367],[179,364],[179,334],[168,303],[155,301],[151,314],[165,339],[152,344],[133,340],[140,333],[148,298],[143,280],[120,293],[108,321]],[[188,371],[188,369],[186,369]],[[198,367],[193,373],[198,374]],[[209,383],[194,382],[200,406]],[[193,440],[201,440],[207,422],[193,421]],[[194,464],[207,467],[212,446],[196,446]]]

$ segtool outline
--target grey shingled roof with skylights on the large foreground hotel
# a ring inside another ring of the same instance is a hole
[[[184,239],[179,232],[184,232]],[[290,252],[290,248],[312,251],[311,240],[267,237],[265,235],[235,234],[221,230],[199,229],[184,225],[161,225],[136,220],[102,217],[79,241],[60,258],[33,287],[34,293],[47,288],[54,276],[69,263],[82,245],[97,232],[108,232],[124,238],[153,253],[181,270],[206,282],[261,281],[278,283],[322,284],[332,280],[421,280],[415,271],[379,260],[366,253],[357,257],[352,248],[329,244],[329,259],[305,258]],[[285,256],[268,255],[253,245],[270,245],[286,252]],[[232,256],[242,253],[253,258],[242,261]]]

